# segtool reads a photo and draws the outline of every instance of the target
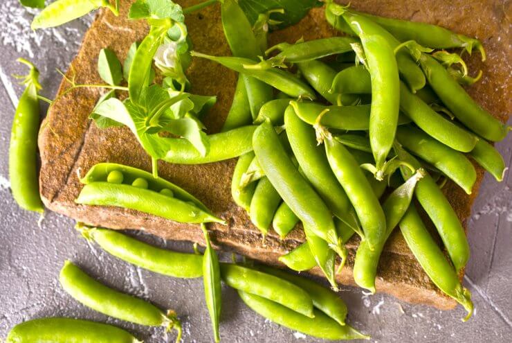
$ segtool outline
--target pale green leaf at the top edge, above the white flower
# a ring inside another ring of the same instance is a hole
[[[131,5],[130,19],[172,19],[185,21],[181,6],[171,0],[137,0]]]

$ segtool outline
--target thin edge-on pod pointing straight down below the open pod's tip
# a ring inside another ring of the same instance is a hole
[[[206,249],[203,255],[203,283],[206,307],[212,319],[214,341],[219,342],[219,319],[221,316],[221,270],[217,253],[212,249],[206,226],[201,224]]]

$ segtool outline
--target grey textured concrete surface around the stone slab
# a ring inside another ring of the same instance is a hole
[[[17,0],[0,2],[0,341],[18,322],[37,317],[66,316],[115,324],[145,342],[174,342],[163,328],[146,328],[110,319],[85,308],[62,291],[57,276],[71,259],[107,285],[173,308],[181,315],[184,342],[211,342],[210,319],[203,303],[201,279],[171,279],[119,261],[89,245],[73,230],[74,223],[55,213],[38,222],[12,200],[8,182],[8,144],[12,114],[22,87],[12,74],[26,69],[24,57],[41,71],[42,94],[53,98],[60,76],[75,55],[91,17],[57,29],[30,30],[32,10]],[[497,144],[507,165],[512,161],[512,135]],[[468,225],[472,256],[465,285],[473,292],[475,315],[463,324],[464,310],[443,312],[411,306],[383,294],[367,296],[345,288],[349,321],[372,334],[372,342],[512,342],[512,178],[497,183],[486,175]],[[191,251],[190,244],[165,242],[138,234],[148,242]],[[224,256],[225,258],[227,256]],[[223,289],[223,342],[321,342],[259,317]]]

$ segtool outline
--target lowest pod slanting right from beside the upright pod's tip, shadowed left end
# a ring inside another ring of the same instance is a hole
[[[399,127],[396,130],[396,139],[407,150],[441,170],[466,193],[471,194],[477,173],[464,154],[445,146],[412,126]]]

